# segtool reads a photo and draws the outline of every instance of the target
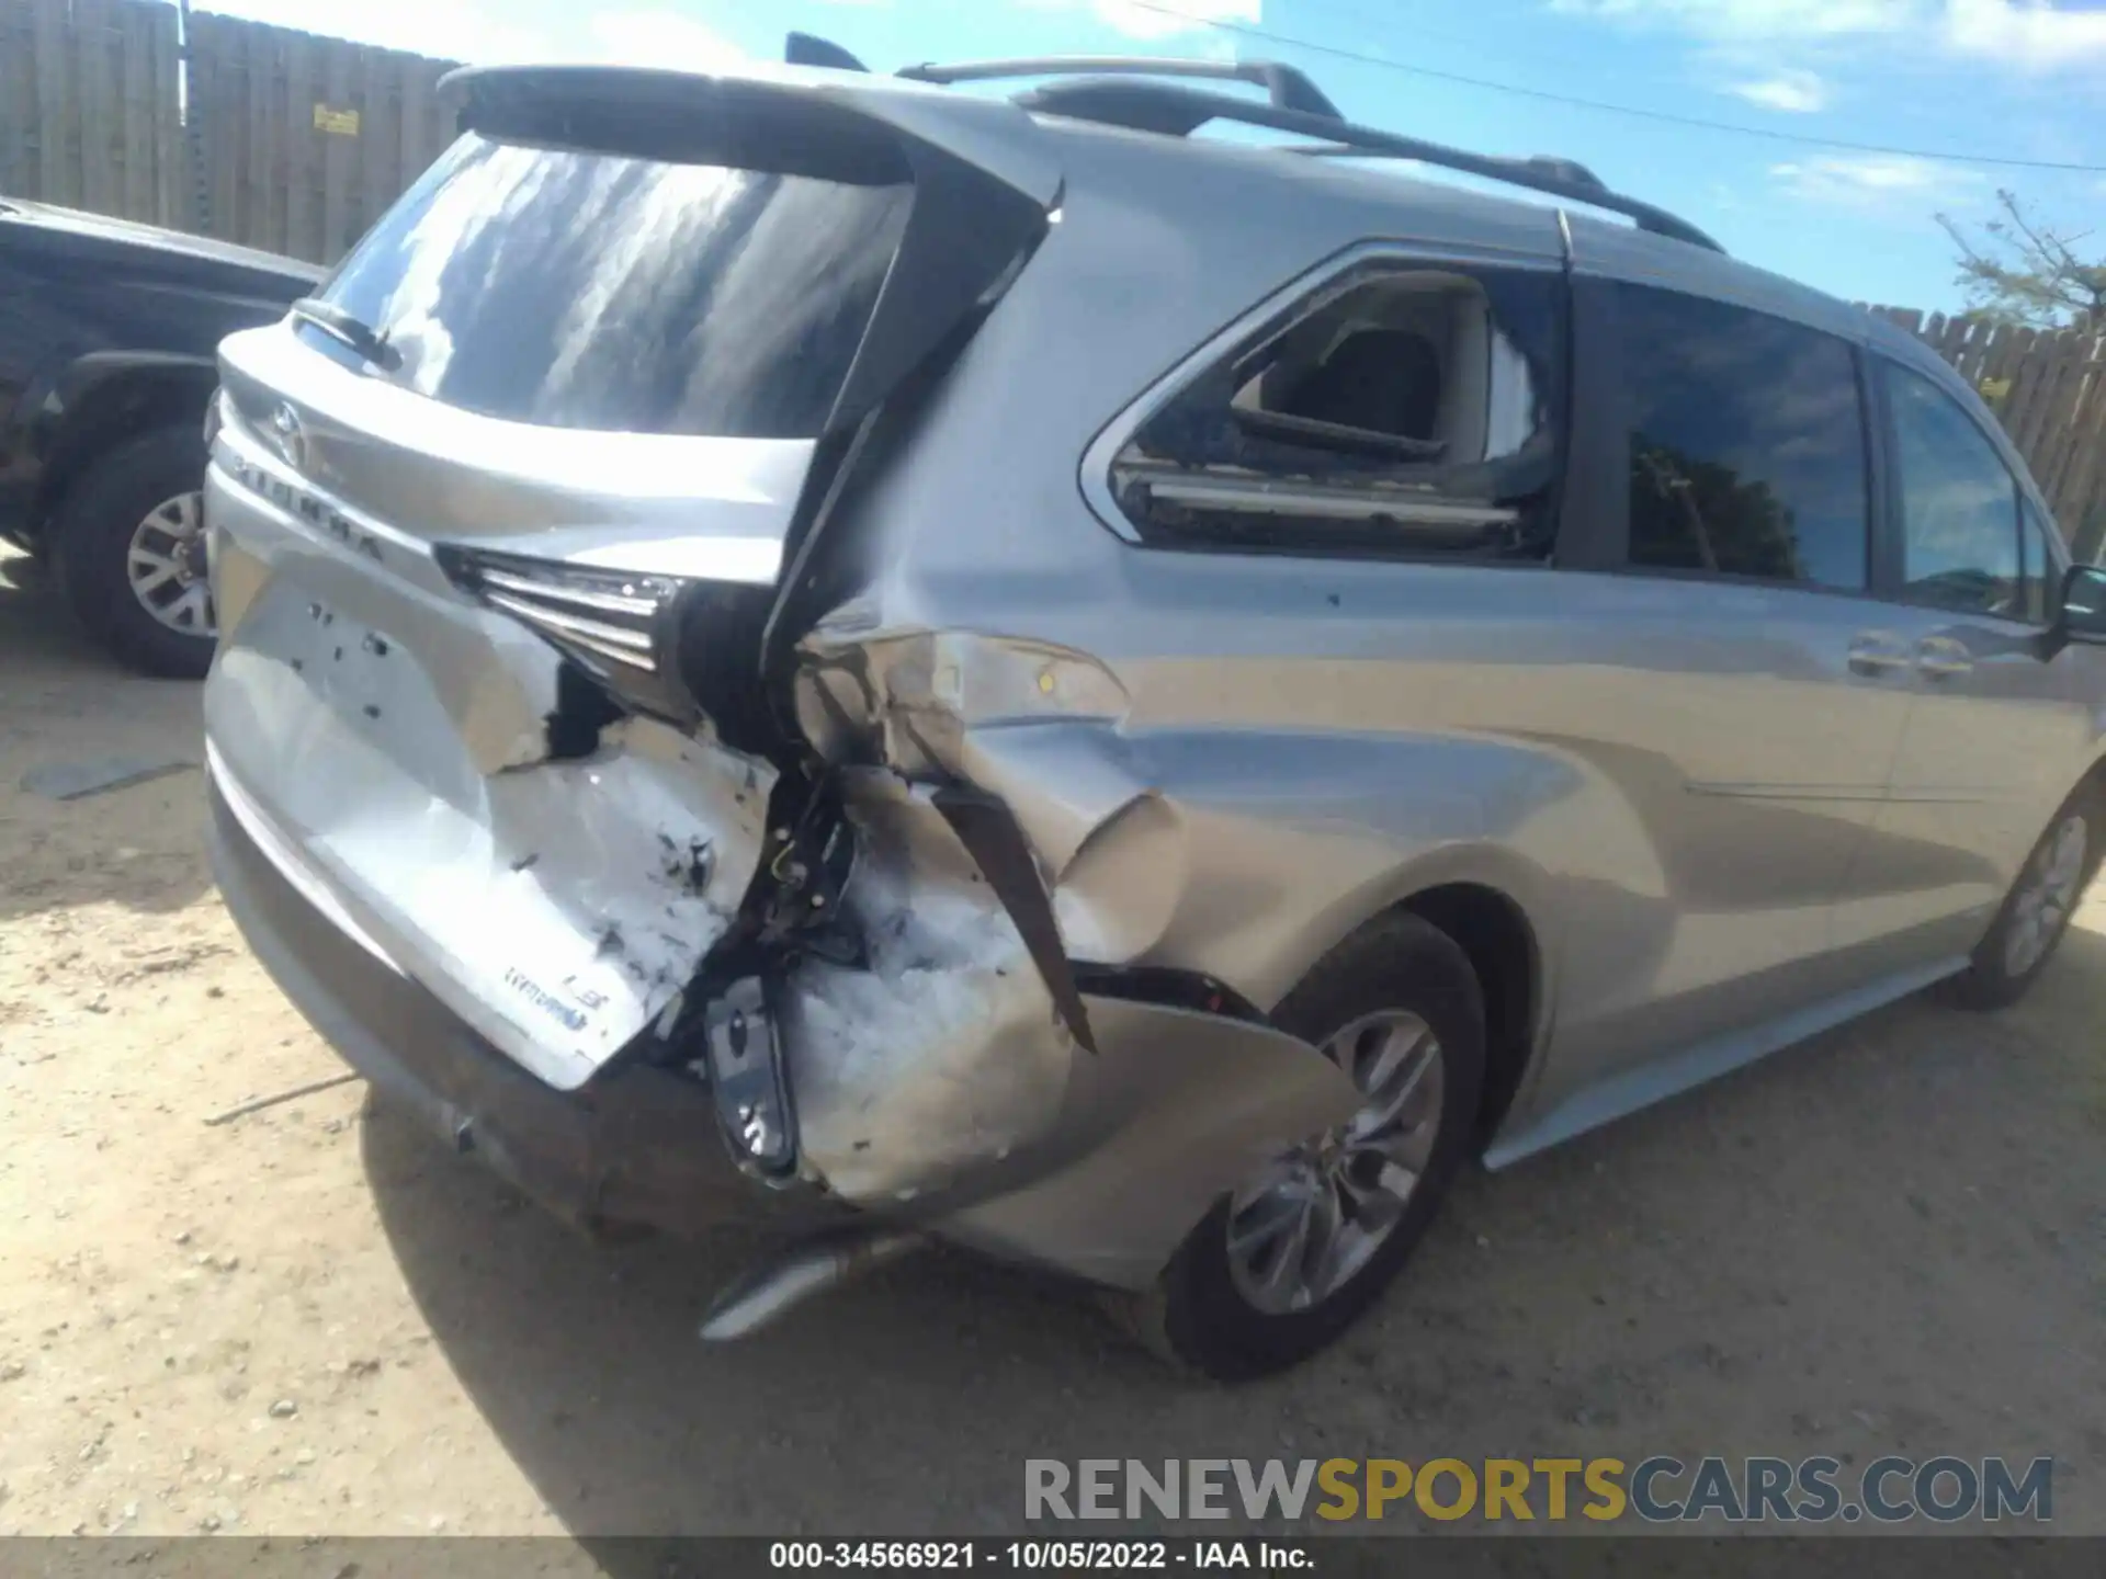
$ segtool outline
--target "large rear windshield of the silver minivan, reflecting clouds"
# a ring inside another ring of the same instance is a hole
[[[912,187],[665,164],[468,135],[322,293],[379,375],[548,427],[813,438],[899,246]]]

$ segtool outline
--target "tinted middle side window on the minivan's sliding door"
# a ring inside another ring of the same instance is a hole
[[[1630,562],[1862,592],[1870,562],[1851,347],[1672,291],[1620,286]]]

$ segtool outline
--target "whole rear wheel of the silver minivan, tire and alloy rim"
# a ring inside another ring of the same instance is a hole
[[[1221,1381],[1308,1358],[1375,1301],[1462,1166],[1485,1080],[1476,973],[1417,916],[1342,943],[1274,1019],[1363,1105],[1217,1202],[1133,1307],[1150,1347]]]

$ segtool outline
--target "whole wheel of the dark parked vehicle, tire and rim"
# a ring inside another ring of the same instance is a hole
[[[204,463],[194,427],[143,434],[93,461],[53,522],[65,600],[141,674],[196,680],[213,661]]]

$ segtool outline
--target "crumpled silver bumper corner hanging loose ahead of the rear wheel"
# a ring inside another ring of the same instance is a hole
[[[781,1021],[802,1164],[836,1196],[1144,1286],[1219,1194],[1358,1105],[1270,1025],[1087,996],[1085,1053],[931,792],[868,771],[847,804],[872,968],[802,964]]]

